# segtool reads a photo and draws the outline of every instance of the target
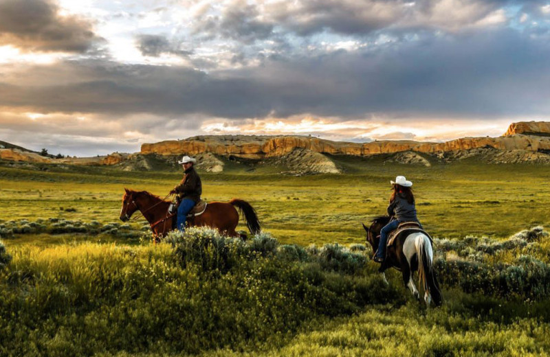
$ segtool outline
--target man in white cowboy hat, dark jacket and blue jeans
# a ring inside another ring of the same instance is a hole
[[[170,194],[177,195],[175,204],[179,203],[179,206],[177,207],[176,227],[182,232],[185,230],[187,214],[201,200],[202,184],[201,178],[195,170],[196,162],[196,159],[187,155],[181,158],[181,161],[177,161],[184,168],[184,178],[170,191]]]

